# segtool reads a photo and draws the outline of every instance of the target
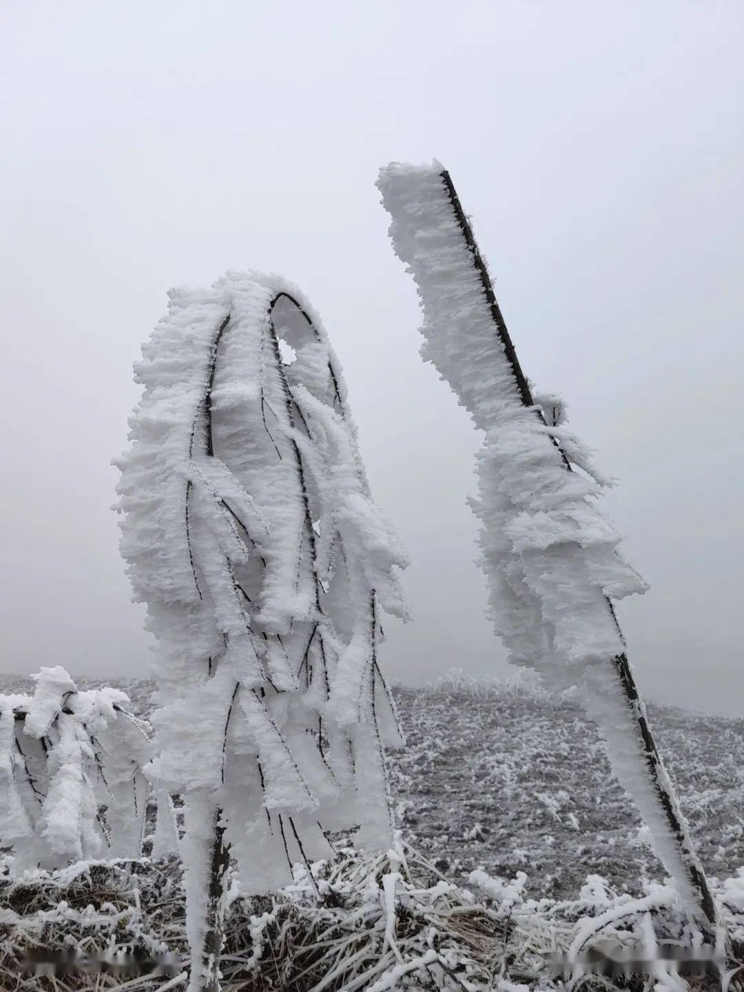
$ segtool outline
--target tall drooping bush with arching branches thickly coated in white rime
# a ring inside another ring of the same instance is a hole
[[[361,824],[363,844],[389,843],[382,747],[400,741],[376,651],[380,609],[404,615],[405,561],[299,292],[252,272],[169,296],[136,366],[118,491],[159,642],[153,772],[185,796],[194,907],[201,820],[224,827],[244,892],[327,856],[324,830]]]

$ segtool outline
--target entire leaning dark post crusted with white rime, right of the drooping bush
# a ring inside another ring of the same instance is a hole
[[[645,583],[592,504],[606,480],[561,418],[546,418],[533,397],[449,173],[438,163],[392,163],[377,186],[392,217],[393,247],[418,289],[423,357],[485,432],[474,510],[496,631],[512,662],[537,668],[558,687],[582,686],[615,775],[712,940],[715,904],[611,603],[644,591]]]

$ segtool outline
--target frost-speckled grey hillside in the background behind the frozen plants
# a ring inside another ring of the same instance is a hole
[[[148,682],[115,684],[148,714]],[[0,677],[0,691],[28,688]],[[389,759],[397,825],[449,879],[466,883],[478,867],[505,878],[521,870],[533,897],[566,899],[590,874],[631,893],[663,877],[578,702],[529,680],[452,679],[395,696],[408,737]],[[735,875],[744,865],[744,718],[667,707],[651,717],[703,865],[719,879]]]

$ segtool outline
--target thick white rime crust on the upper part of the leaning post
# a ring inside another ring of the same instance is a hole
[[[496,631],[512,661],[565,684],[624,650],[605,596],[646,586],[594,506],[606,480],[558,426],[563,406],[555,397],[524,405],[442,173],[438,164],[390,165],[378,186],[393,246],[421,299],[423,357],[485,433],[471,505]],[[584,471],[567,472],[566,458]]]

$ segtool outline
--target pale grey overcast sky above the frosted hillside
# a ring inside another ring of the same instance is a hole
[[[144,672],[118,556],[132,362],[174,284],[279,271],[323,315],[413,564],[387,672],[504,672],[478,434],[418,357],[373,186],[450,170],[522,365],[619,479],[654,699],[741,713],[741,3],[0,4],[5,672]]]

